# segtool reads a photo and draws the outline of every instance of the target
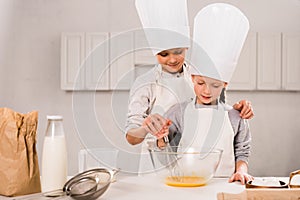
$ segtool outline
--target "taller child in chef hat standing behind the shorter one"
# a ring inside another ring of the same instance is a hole
[[[153,141],[166,135],[167,121],[161,115],[174,104],[193,97],[185,63],[190,46],[186,0],[136,0],[135,3],[158,64],[138,77],[130,90],[125,131],[127,141],[133,145],[142,143],[146,136]],[[245,118],[253,116],[247,101],[241,101],[236,109],[242,110]],[[152,171],[145,142],[142,148],[145,153],[141,155],[139,171]]]

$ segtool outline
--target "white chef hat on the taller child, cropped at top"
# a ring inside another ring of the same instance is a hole
[[[186,0],[136,0],[135,6],[154,55],[190,47]]]

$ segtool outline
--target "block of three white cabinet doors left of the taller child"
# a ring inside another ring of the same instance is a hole
[[[130,89],[133,33],[63,33],[61,41],[62,89]]]

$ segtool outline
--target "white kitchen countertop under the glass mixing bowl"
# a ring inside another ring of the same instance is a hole
[[[245,190],[245,186],[240,182],[228,183],[227,178],[214,178],[207,185],[202,187],[171,187],[164,184],[163,180],[155,175],[144,176],[125,176],[117,175],[117,181],[111,183],[108,190],[101,196],[101,200],[154,200],[154,199],[172,199],[182,200],[186,197],[189,200],[193,199],[217,199],[217,193],[241,193]],[[32,197],[32,198],[28,198]],[[0,199],[49,199],[35,198],[35,195],[23,197],[0,197]],[[68,197],[60,199],[70,199]]]

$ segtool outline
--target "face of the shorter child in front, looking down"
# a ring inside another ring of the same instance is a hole
[[[222,89],[227,86],[223,81],[200,75],[192,75],[192,80],[198,104],[215,105]]]

